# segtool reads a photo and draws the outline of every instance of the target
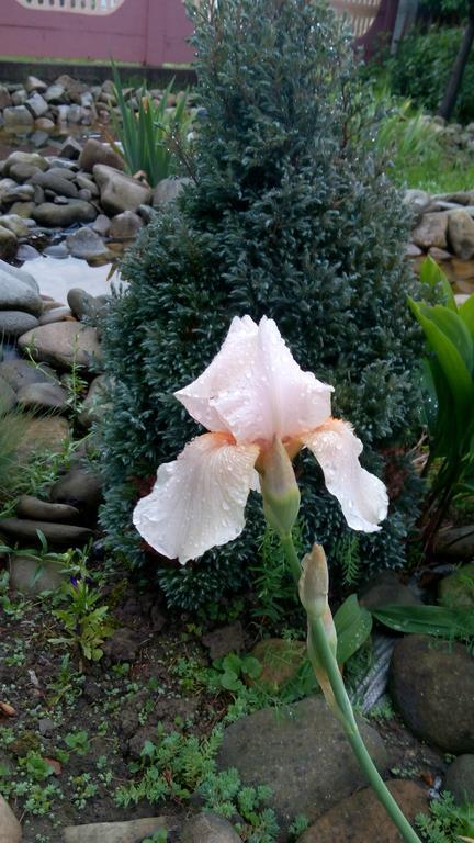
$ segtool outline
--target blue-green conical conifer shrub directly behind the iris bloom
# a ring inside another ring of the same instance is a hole
[[[127,254],[129,288],[103,328],[115,387],[102,431],[102,520],[112,546],[138,564],[131,512],[139,490],[198,432],[171,394],[210,363],[233,316],[276,321],[302,368],[335,385],[335,413],[356,426],[364,463],[380,475],[409,440],[418,402],[409,221],[364,122],[342,24],[318,0],[204,0],[191,13],[205,109],[195,183]],[[296,469],[304,541],[316,537],[335,565],[348,537],[339,505],[314,459]],[[391,472],[405,491],[382,533],[361,539],[372,567],[400,564],[415,509],[406,468]],[[185,569],[155,562],[170,602],[195,607],[240,587],[261,533],[261,505],[250,502],[232,544]]]

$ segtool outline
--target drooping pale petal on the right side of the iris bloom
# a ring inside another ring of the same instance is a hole
[[[353,530],[375,532],[386,518],[388,496],[379,477],[359,462],[362,442],[346,422],[331,418],[317,430],[302,437],[303,445],[316,457],[331,495],[341,505]]]

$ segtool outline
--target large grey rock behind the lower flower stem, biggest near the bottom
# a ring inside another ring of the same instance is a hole
[[[382,739],[360,722],[365,744],[381,772],[387,756]],[[219,769],[237,767],[245,785],[266,784],[271,805],[287,824],[297,813],[316,820],[365,784],[343,730],[321,697],[294,706],[262,709],[224,732]]]

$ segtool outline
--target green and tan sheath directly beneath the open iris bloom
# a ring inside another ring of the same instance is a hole
[[[300,512],[300,490],[290,457],[278,437],[259,460],[260,488],[268,524],[289,536]]]

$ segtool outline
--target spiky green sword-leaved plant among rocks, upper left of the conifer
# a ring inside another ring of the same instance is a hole
[[[138,111],[125,100],[120,74],[112,65],[115,99],[120,120],[112,111],[112,124],[120,139],[122,154],[129,173],[139,170],[146,173],[148,183],[156,187],[159,181],[179,170],[177,149],[185,144],[191,117],[188,111],[188,94],[182,94],[174,110],[169,109],[172,79],[158,105],[145,85],[138,97]],[[121,151],[121,150],[119,150]]]

